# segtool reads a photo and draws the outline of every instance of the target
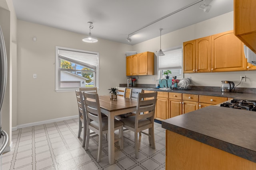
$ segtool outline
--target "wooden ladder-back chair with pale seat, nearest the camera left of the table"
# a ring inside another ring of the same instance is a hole
[[[90,130],[92,130],[99,135],[97,162],[100,162],[102,150],[102,135],[108,133],[108,117],[101,116],[98,94],[83,92],[83,96],[86,109],[87,134],[90,132]],[[92,119],[92,121],[89,121],[90,119]],[[124,147],[123,125],[124,124],[121,121],[118,121],[116,119],[114,120],[114,130],[119,129],[119,138],[116,139],[115,142],[119,141],[120,149],[123,149]],[[85,150],[88,150],[89,139],[90,136],[86,135]]]

